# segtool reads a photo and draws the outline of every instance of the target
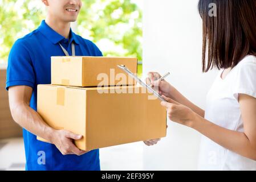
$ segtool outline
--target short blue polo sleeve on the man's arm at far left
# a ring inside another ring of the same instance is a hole
[[[11,48],[6,73],[6,90],[17,85],[34,88],[35,73],[29,50],[23,39],[17,40]]]

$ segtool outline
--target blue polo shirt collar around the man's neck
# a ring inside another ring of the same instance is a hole
[[[59,43],[61,40],[65,39],[64,36],[58,34],[55,30],[53,30],[48,24],[46,24],[45,20],[42,20],[38,30],[46,36],[48,40],[50,40],[53,44]],[[74,41],[76,44],[79,44],[78,39],[76,38],[76,34],[70,28],[70,40]]]

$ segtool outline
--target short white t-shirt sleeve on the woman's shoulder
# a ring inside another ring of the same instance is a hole
[[[246,61],[238,66],[233,86],[236,100],[239,93],[256,98],[256,61]]]

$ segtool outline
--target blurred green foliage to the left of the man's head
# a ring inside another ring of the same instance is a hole
[[[0,0],[0,60],[7,61],[16,39],[34,30],[43,19],[42,7],[31,1]],[[34,6],[34,7],[33,7]]]

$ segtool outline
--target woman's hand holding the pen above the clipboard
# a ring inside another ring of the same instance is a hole
[[[167,81],[157,81],[161,78],[161,75],[157,72],[149,72],[146,82],[148,85],[152,84],[152,88],[159,92],[160,95],[170,97],[173,86],[170,85]]]

